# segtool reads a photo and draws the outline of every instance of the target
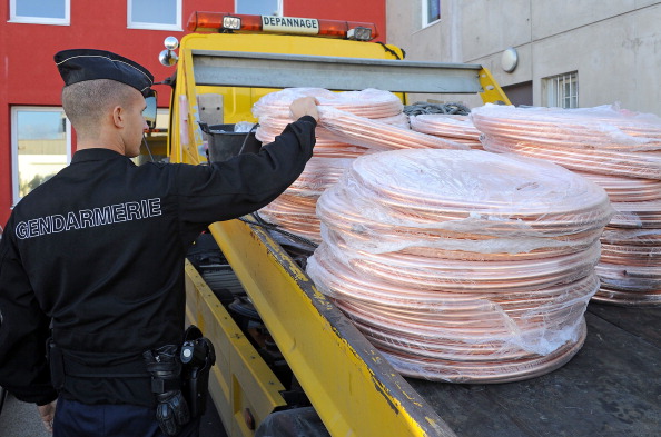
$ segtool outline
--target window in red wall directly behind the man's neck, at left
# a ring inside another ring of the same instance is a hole
[[[13,202],[71,159],[71,125],[61,108],[11,108]]]

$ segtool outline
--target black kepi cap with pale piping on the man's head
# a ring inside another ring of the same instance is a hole
[[[151,95],[154,76],[145,67],[130,59],[106,50],[71,49],[55,56],[56,64],[65,85],[85,80],[111,79],[134,87],[145,97]]]

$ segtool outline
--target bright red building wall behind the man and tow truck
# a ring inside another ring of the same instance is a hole
[[[52,61],[63,49],[110,50],[147,67],[157,81],[174,72],[162,67],[158,53],[168,36],[186,32],[127,29],[127,0],[70,0],[70,26],[12,23],[9,1],[0,2],[0,224],[11,212],[11,110],[12,106],[59,107],[62,80]],[[234,12],[234,0],[182,1],[182,27],[195,10]],[[384,0],[284,0],[289,17],[368,21],[377,26],[379,40],[385,36]],[[161,92],[159,107],[169,96]],[[73,146],[75,147],[75,146]]]

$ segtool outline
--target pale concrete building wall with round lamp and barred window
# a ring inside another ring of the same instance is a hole
[[[501,86],[532,81],[533,105],[543,105],[543,78],[578,71],[581,107],[620,102],[661,116],[661,1],[441,0],[441,20],[426,28],[421,8],[386,0],[387,42],[410,60],[480,63]],[[501,67],[507,47],[519,52],[511,73]]]

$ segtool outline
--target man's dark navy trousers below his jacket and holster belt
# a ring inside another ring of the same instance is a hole
[[[165,437],[154,408],[136,405],[87,405],[60,397],[53,437]],[[177,437],[199,437],[199,417]]]

